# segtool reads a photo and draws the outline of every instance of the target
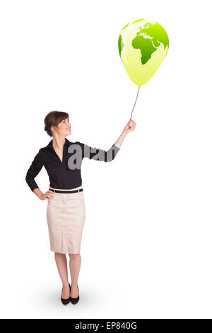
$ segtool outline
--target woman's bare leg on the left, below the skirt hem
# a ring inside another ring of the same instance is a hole
[[[57,264],[57,270],[63,284],[62,298],[69,298],[70,288],[69,288],[69,278],[67,269],[67,259],[66,254],[54,252],[54,258]]]

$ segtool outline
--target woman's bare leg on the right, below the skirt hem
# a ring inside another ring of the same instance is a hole
[[[78,275],[81,269],[81,254],[69,253],[69,268],[71,273],[71,297],[78,297]]]

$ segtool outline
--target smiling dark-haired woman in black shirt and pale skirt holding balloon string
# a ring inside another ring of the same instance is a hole
[[[81,267],[81,237],[86,218],[86,208],[81,179],[81,163],[84,157],[110,162],[116,156],[128,132],[134,130],[134,120],[124,127],[118,140],[106,152],[81,142],[66,139],[71,134],[69,114],[52,111],[45,117],[45,130],[53,139],[39,150],[25,176],[30,189],[40,200],[47,200],[47,224],[50,249],[62,282],[61,302],[76,304],[79,300],[78,275]],[[49,175],[49,190],[42,193],[35,176],[45,166]],[[68,280],[66,254],[69,254],[71,286]]]

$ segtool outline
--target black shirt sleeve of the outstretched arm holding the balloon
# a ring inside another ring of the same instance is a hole
[[[111,162],[119,152],[120,148],[116,145],[112,145],[109,150],[103,150],[96,147],[90,147],[82,142],[77,142],[81,145],[83,158],[95,159],[96,161]]]

